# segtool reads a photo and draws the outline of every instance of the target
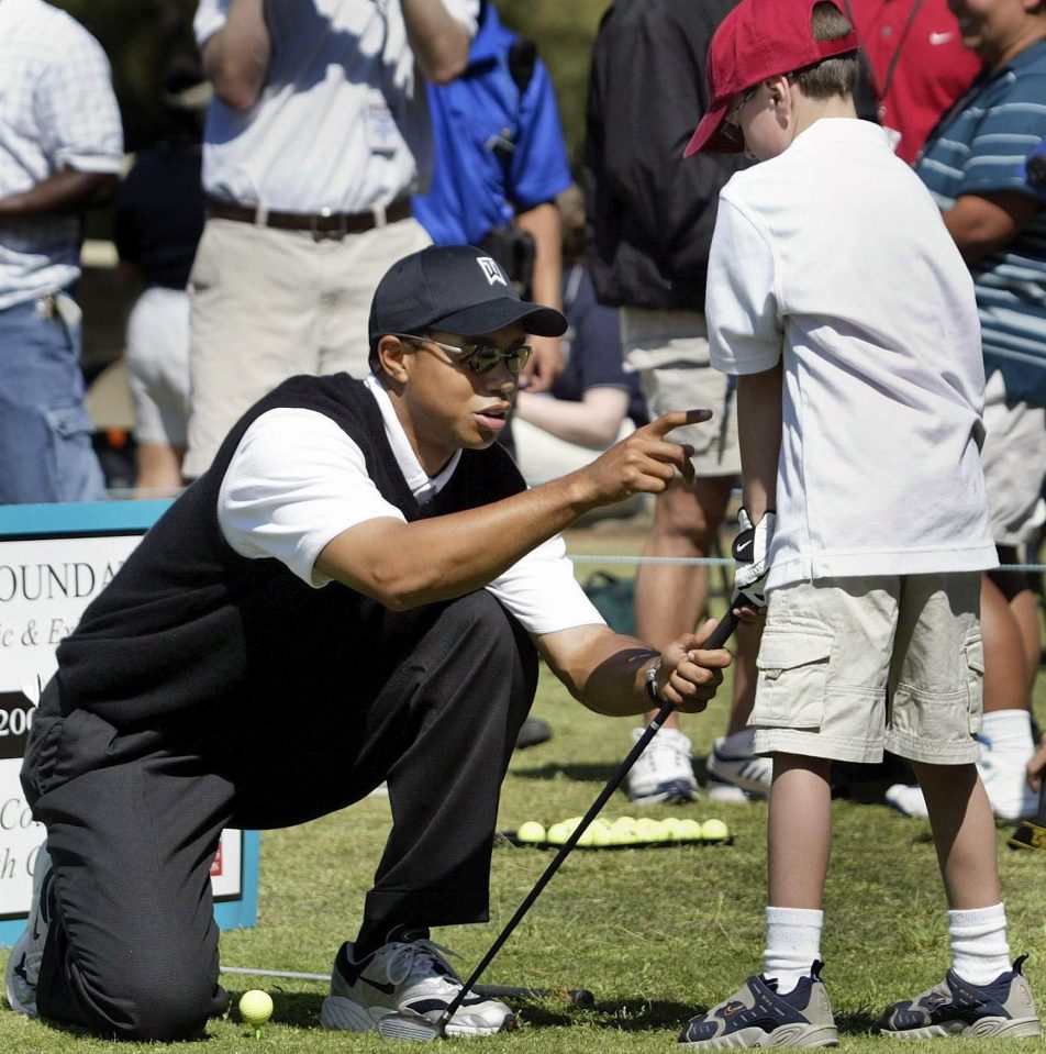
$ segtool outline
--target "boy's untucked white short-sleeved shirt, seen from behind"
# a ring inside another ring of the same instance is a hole
[[[973,286],[881,129],[823,119],[731,178],[705,306],[719,369],[785,357],[771,588],[995,566]]]

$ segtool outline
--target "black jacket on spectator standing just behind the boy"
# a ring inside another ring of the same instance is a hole
[[[736,0],[615,0],[592,53],[589,265],[602,303],[704,310],[719,192],[741,154],[682,152],[708,104],[709,43]]]

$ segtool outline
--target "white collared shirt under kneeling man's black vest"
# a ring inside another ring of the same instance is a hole
[[[430,477],[380,382],[371,374],[366,385],[381,410],[403,478],[424,504],[454,475],[460,454]],[[315,588],[331,581],[314,569],[329,542],[358,523],[389,517],[405,522],[367,475],[359,446],[314,410],[281,408],[257,418],[236,447],[218,498],[222,534],[235,552],[278,559]],[[534,635],[604,621],[577,584],[559,535],[487,588]]]

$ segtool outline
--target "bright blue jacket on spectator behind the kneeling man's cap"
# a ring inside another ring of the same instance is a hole
[[[570,184],[552,79],[537,59],[521,93],[509,67],[519,36],[483,4],[467,69],[429,86],[435,169],[414,215],[437,245],[479,245],[492,228]]]

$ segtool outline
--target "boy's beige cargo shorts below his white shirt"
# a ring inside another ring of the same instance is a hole
[[[980,757],[980,575],[832,578],[769,596],[749,723],[759,754]]]

